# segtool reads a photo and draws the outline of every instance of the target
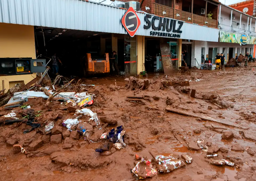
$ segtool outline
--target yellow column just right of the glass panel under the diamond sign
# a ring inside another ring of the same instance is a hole
[[[145,36],[137,36],[137,75],[145,71]]]

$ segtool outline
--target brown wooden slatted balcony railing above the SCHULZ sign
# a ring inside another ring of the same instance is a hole
[[[189,23],[195,23],[198,25],[203,25],[203,26],[208,26],[208,27],[213,27],[213,28],[217,28],[217,20],[215,19],[210,19],[204,16],[199,16],[199,15],[195,15],[186,11],[181,11],[181,10],[177,10],[174,9],[172,7],[168,7],[168,6],[164,6],[164,5],[160,5],[157,3],[153,3],[153,12],[152,14],[157,15],[157,16],[165,16],[165,17],[170,17],[173,19],[177,19],[177,20],[181,20],[181,21],[186,21]],[[166,15],[163,15],[163,11],[166,12]],[[176,14],[179,14],[180,16],[176,16]],[[190,20],[188,20],[188,17],[190,18]],[[206,23],[207,22],[207,23]]]

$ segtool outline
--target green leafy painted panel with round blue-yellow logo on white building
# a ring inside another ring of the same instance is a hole
[[[241,43],[242,45],[256,44],[256,37],[220,31],[220,42]]]

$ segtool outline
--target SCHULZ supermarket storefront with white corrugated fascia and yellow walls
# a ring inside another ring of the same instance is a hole
[[[126,67],[131,75],[139,74],[143,71],[145,62],[145,50],[154,49],[149,47],[151,43],[145,43],[148,39],[164,41],[168,46],[172,46],[173,59],[177,59],[177,66],[181,64],[181,47],[183,41],[218,41],[218,29],[186,23],[180,20],[174,20],[166,17],[154,16],[146,13],[128,12],[126,9],[102,5],[88,1],[47,1],[46,0],[24,0],[15,4],[13,0],[3,0],[1,6],[0,26],[1,40],[6,44],[0,50],[0,58],[20,57],[35,58],[35,49],[37,40],[35,39],[36,27],[49,27],[67,29],[72,31],[85,31],[95,34],[109,34],[111,39],[111,49],[123,49],[124,57],[119,54],[119,61],[122,67]],[[56,7],[52,9],[51,7]],[[36,11],[35,11],[36,10]],[[97,11],[96,11],[97,10]],[[84,13],[86,12],[86,13]],[[91,16],[93,14],[97,16]],[[125,16],[124,16],[125,15]],[[125,21],[126,18],[126,21]],[[6,24],[16,24],[10,27]],[[125,25],[125,26],[124,26]],[[22,28],[20,28],[22,27]],[[19,33],[15,33],[15,30]],[[28,31],[29,29],[30,31]],[[11,33],[10,32],[14,32]],[[64,35],[64,34],[63,34]],[[29,39],[27,38],[29,36]],[[91,35],[86,35],[87,37]],[[100,38],[99,47],[107,47],[107,43]],[[9,37],[9,38],[6,38]],[[18,39],[16,37],[19,37]],[[55,39],[60,38],[56,37]],[[102,38],[103,37],[103,38]],[[83,38],[83,37],[82,37]],[[29,41],[29,40],[33,41]],[[122,41],[120,40],[122,39]],[[163,40],[161,40],[163,39]],[[1,41],[1,42],[2,42]],[[13,41],[16,45],[12,46]],[[169,42],[169,43],[168,43]],[[47,39],[45,40],[47,42]],[[102,46],[102,43],[105,46]],[[25,46],[29,47],[25,51]],[[110,46],[109,45],[109,46]],[[146,47],[145,47],[146,46]],[[8,55],[12,50],[15,54]],[[102,52],[103,50],[101,50]],[[147,51],[147,50],[146,50]],[[148,50],[149,51],[149,50]],[[193,52],[191,52],[193,55]],[[127,66],[126,66],[127,65]],[[120,65],[121,66],[121,65]],[[11,78],[12,77],[12,78]],[[26,77],[26,78],[25,78]],[[8,79],[19,81],[15,76],[9,76]],[[19,79],[32,80],[31,74],[24,75]],[[7,80],[9,81],[9,80]],[[1,82],[2,83],[2,82]],[[26,82],[25,82],[26,83]],[[5,82],[7,85],[7,83]],[[5,86],[6,87],[6,86]]]

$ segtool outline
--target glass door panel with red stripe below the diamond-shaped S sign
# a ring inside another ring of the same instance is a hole
[[[125,76],[137,74],[137,41],[136,36],[124,36],[124,71]]]

